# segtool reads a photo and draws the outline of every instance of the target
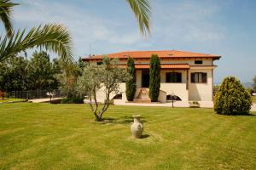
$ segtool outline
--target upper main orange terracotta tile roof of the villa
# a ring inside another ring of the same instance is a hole
[[[201,53],[192,53],[192,52],[185,52],[185,51],[177,51],[177,50],[163,50],[163,51],[127,51],[127,52],[120,52],[114,54],[108,54],[109,58],[118,58],[118,59],[127,59],[129,56],[134,59],[144,59],[150,58],[152,54],[158,54],[160,58],[213,58],[219,59],[219,55],[212,55],[212,54],[201,54]],[[83,60],[90,60],[90,59],[102,59],[103,55],[95,55],[86,57]]]

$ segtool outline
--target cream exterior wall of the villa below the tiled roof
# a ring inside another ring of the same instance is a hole
[[[199,59],[200,60],[200,59]],[[200,66],[203,65],[212,65],[212,59],[202,59],[203,64],[199,65],[199,67],[193,67],[195,65],[195,60],[163,60],[161,64],[189,64],[192,65],[189,69],[189,89],[186,88],[187,83],[187,71],[185,70],[162,70],[160,72],[160,90],[166,92],[166,95],[175,94],[183,101],[195,100],[195,101],[212,101],[212,70],[213,67],[205,67],[202,68]],[[149,62],[145,61],[136,61],[136,64],[149,64]],[[119,61],[120,65],[125,65],[126,61]],[[96,61],[91,62],[90,65],[96,65]],[[166,82],[166,72],[181,72],[182,73],[182,82]],[[206,72],[207,73],[207,83],[191,83],[191,73],[192,72]],[[142,70],[137,70],[137,88],[142,87]],[[99,101],[104,101],[104,89],[101,89],[97,93],[97,98]],[[122,100],[126,101],[125,95],[125,83],[120,83],[120,93],[122,94]],[[161,93],[163,94],[163,93]],[[115,96],[115,94],[111,94],[111,99]],[[135,95],[135,97],[137,94]],[[160,100],[164,101],[163,95],[160,96]]]

